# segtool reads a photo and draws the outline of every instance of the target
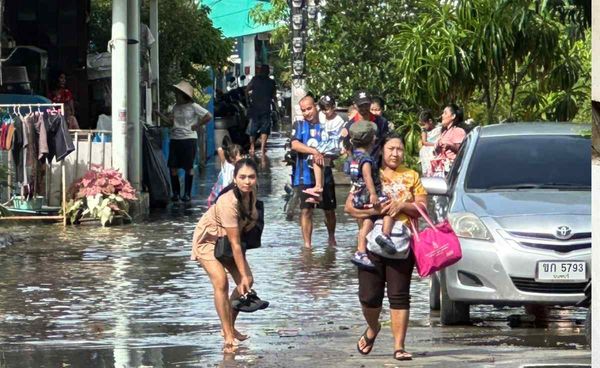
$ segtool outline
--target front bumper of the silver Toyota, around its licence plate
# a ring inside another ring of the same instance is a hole
[[[494,241],[460,238],[462,259],[444,269],[448,296],[469,304],[573,305],[587,281],[536,282],[538,261],[585,261],[591,274],[591,249],[569,253],[533,249],[500,235]]]

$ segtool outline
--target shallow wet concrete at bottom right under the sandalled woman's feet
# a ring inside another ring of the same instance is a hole
[[[224,367],[525,367],[533,364],[591,366],[591,352],[577,329],[411,327],[406,348],[412,361],[393,359],[393,339],[384,326],[373,351],[362,356],[356,342],[364,326],[327,326],[295,337],[255,336]],[[536,346],[537,345],[537,346]],[[547,346],[547,347],[540,347]]]

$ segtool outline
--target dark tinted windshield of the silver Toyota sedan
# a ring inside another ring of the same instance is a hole
[[[470,160],[470,191],[590,190],[591,142],[583,136],[483,137]]]

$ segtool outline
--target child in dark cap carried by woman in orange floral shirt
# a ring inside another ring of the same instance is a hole
[[[352,124],[349,129],[352,152],[348,159],[348,165],[346,165],[346,174],[350,175],[352,184],[351,192],[353,193],[352,205],[354,208],[372,208],[387,200],[382,195],[377,160],[369,155],[371,147],[375,142],[376,132],[377,126],[365,120]],[[392,227],[393,224],[392,219]],[[373,225],[373,219],[371,218],[363,219],[359,222],[358,249],[351,261],[361,268],[368,269],[374,267],[367,256],[367,234],[373,230]],[[381,247],[388,253],[393,254],[396,252],[393,243],[386,243],[385,245],[381,245]]]

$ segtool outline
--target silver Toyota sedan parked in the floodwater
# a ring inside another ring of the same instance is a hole
[[[463,258],[431,279],[442,324],[469,306],[573,305],[591,276],[589,126],[512,123],[475,128],[450,173],[423,178]]]

